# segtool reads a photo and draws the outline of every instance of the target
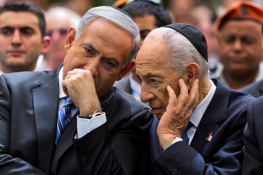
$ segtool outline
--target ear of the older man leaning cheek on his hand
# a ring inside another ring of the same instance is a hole
[[[198,78],[199,76],[199,66],[196,63],[189,63],[186,66],[186,72],[183,74],[182,78],[188,88],[188,91],[191,91],[193,82]]]

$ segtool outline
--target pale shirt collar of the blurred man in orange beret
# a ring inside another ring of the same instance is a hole
[[[219,79],[222,84],[230,88],[223,71],[224,71],[224,65],[222,63],[219,63],[214,74],[212,74],[211,77]],[[258,67],[258,73],[252,83],[255,83],[262,79],[263,79],[263,62],[260,62]]]

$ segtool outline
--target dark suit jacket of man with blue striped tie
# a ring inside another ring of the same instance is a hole
[[[60,68],[0,76],[0,174],[137,174],[152,114],[120,89],[100,98],[105,124],[74,139],[74,116],[54,149]]]

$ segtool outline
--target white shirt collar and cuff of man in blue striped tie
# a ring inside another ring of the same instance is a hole
[[[60,110],[66,100],[64,99],[64,97],[67,97],[62,89],[62,81],[63,81],[63,77],[62,77],[62,72],[63,72],[63,66],[60,69],[59,73],[58,73],[58,83],[59,83],[59,105],[58,105],[58,110]],[[71,110],[71,115],[74,116],[76,114],[76,112],[78,112],[78,108]],[[75,138],[80,138],[82,136],[84,136],[85,134],[89,133],[90,131],[94,130],[95,128],[101,126],[102,124],[104,124],[107,119],[106,119],[106,115],[104,112],[102,112],[102,115],[99,115],[97,117],[91,118],[91,119],[86,119],[86,118],[79,118],[80,115],[77,116],[77,130],[78,133],[75,136]]]

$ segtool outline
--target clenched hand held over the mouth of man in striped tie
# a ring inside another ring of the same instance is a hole
[[[94,79],[89,70],[69,71],[62,81],[62,88],[67,97],[80,109],[81,117],[91,115],[96,110],[101,111]]]

